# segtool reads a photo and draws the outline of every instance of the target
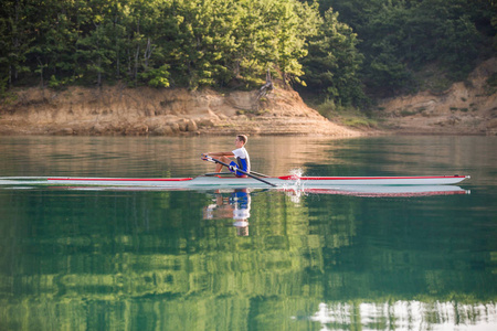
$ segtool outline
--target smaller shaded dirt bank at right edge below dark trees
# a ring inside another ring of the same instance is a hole
[[[431,135],[497,135],[497,90],[487,81],[497,58],[479,65],[467,82],[443,93],[430,90],[380,103],[377,115],[389,131]]]

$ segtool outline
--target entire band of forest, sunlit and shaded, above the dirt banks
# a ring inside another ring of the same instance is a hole
[[[494,0],[3,0],[0,95],[13,87],[258,88],[336,105],[464,81],[496,54]],[[421,74],[420,74],[421,73]]]

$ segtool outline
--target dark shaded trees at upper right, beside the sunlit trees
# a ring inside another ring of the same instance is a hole
[[[495,55],[494,0],[321,0],[361,42],[362,82],[377,96],[415,90],[415,73],[435,64],[448,81],[464,79]]]

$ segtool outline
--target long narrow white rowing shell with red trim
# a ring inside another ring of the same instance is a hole
[[[277,188],[254,179],[198,177],[194,179],[104,179],[104,178],[0,178],[0,188],[27,190],[40,185],[63,190],[97,191],[229,191],[241,189],[275,189],[289,195],[337,194],[357,196],[424,196],[469,194],[452,185],[464,177],[437,178],[334,178],[289,180],[269,178]],[[352,184],[350,184],[352,183]]]

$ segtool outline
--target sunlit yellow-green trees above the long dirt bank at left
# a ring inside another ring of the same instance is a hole
[[[267,68],[302,75],[318,11],[295,0],[8,0],[1,8],[2,76],[38,74],[52,86],[219,86]]]

